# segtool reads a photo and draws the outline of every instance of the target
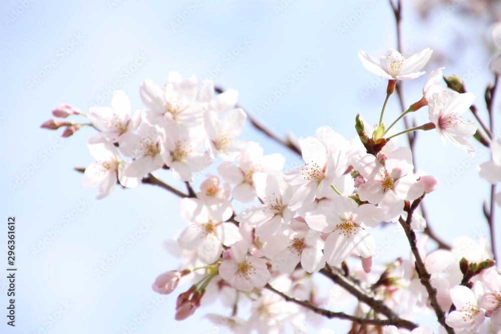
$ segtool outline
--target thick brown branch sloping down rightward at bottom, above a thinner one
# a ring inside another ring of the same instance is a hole
[[[386,306],[386,304],[382,300],[375,299],[374,297],[369,295],[367,291],[362,289],[362,287],[356,285],[349,278],[335,273],[330,265],[326,265],[320,270],[320,272],[329,277],[335,283],[342,286],[348,292],[353,294],[355,297],[357,297],[358,300],[369,305],[372,309],[374,309],[374,311],[386,315],[388,319],[400,323],[402,327],[405,327],[407,329],[414,329],[417,327],[417,324],[415,324],[414,322],[400,318],[398,314],[396,314],[391,308]]]

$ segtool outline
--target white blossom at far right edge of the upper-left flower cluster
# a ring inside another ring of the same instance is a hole
[[[224,160],[235,160],[245,146],[244,142],[235,139],[242,132],[246,118],[240,108],[231,110],[223,118],[218,118],[213,110],[204,113],[205,146],[211,159],[216,159],[219,154]]]

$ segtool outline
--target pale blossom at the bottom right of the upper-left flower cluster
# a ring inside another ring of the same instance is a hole
[[[170,123],[165,126],[165,133],[160,152],[162,160],[175,178],[192,182],[192,173],[202,171],[211,163],[207,153],[198,151],[205,139],[201,126],[184,128]]]

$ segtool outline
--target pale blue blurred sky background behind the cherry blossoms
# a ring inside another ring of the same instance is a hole
[[[488,63],[499,52],[488,38],[489,26],[501,14],[497,6],[468,1],[403,4],[400,51],[409,56],[432,48],[425,70],[445,66],[445,75],[463,78],[484,119],[483,94],[493,80]],[[357,113],[370,124],[378,121],[386,87],[362,67],[358,50],[379,58],[396,48],[391,6],[382,0],[5,0],[0,13],[0,257],[5,261],[0,265],[0,309],[5,313],[9,216],[16,217],[18,268],[16,327],[8,326],[0,313],[2,333],[224,332],[203,318],[209,311],[227,312],[217,302],[178,322],[175,300],[188,286],[165,297],[151,290],[157,275],[181,263],[164,247],[186,226],[178,213],[179,199],[141,185],[117,187],[109,197],[96,200],[97,189],[83,188],[82,174],[73,170],[94,162],[86,139],[95,131],[83,128],[62,140],[62,129],[39,128],[58,104],[84,111],[111,106],[112,91],[120,89],[133,110],[141,109],[141,82],[152,79],[163,85],[170,71],[178,71],[199,80],[209,76],[217,86],[237,90],[238,103],[283,137],[307,137],[329,125],[352,139]],[[425,78],[405,82],[407,106],[421,98]],[[277,97],[281,86],[286,91]],[[399,113],[395,96],[385,122]],[[426,110],[414,118],[417,124],[427,122]],[[473,117],[465,114],[464,119]],[[499,135],[500,127],[496,129]],[[250,124],[241,139],[260,142],[265,154],[283,153],[286,168],[297,163],[296,156]],[[405,138],[398,143],[407,145]],[[419,133],[417,166],[440,181],[425,200],[429,224],[445,241],[475,233],[488,236],[482,203],[490,186],[478,177],[476,166],[489,159],[484,148],[469,159],[450,143],[443,146],[435,131]],[[154,174],[183,189],[165,171]],[[501,222],[499,212],[497,217]],[[378,229],[376,242],[392,230]],[[430,242],[429,247],[435,245]],[[408,254],[399,239],[377,262]],[[113,265],[104,265],[106,261]],[[305,330],[346,332],[346,326],[330,320]]]

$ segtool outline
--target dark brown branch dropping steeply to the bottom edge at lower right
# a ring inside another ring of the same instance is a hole
[[[412,251],[412,254],[414,254],[415,258],[415,266],[416,266],[416,271],[419,276],[419,279],[421,280],[421,284],[426,288],[426,291],[428,292],[428,296],[430,298],[430,304],[431,307],[435,310],[435,314],[437,316],[438,322],[445,328],[447,333],[449,334],[454,334],[454,330],[449,327],[445,323],[445,314],[442,308],[440,307],[440,304],[438,303],[437,300],[437,290],[431,286],[431,274],[426,270],[426,266],[424,264],[423,259],[421,258],[421,255],[419,254],[419,250],[417,248],[417,239],[416,239],[416,233],[412,230],[411,227],[411,222],[412,222],[412,215],[414,213],[414,210],[417,209],[419,206],[419,203],[421,203],[422,199],[424,198],[424,195],[416,199],[412,205],[410,206],[409,209],[407,209],[407,219],[403,220],[400,218],[400,224],[404,228],[405,235],[407,236],[407,239],[409,240],[410,248]]]

